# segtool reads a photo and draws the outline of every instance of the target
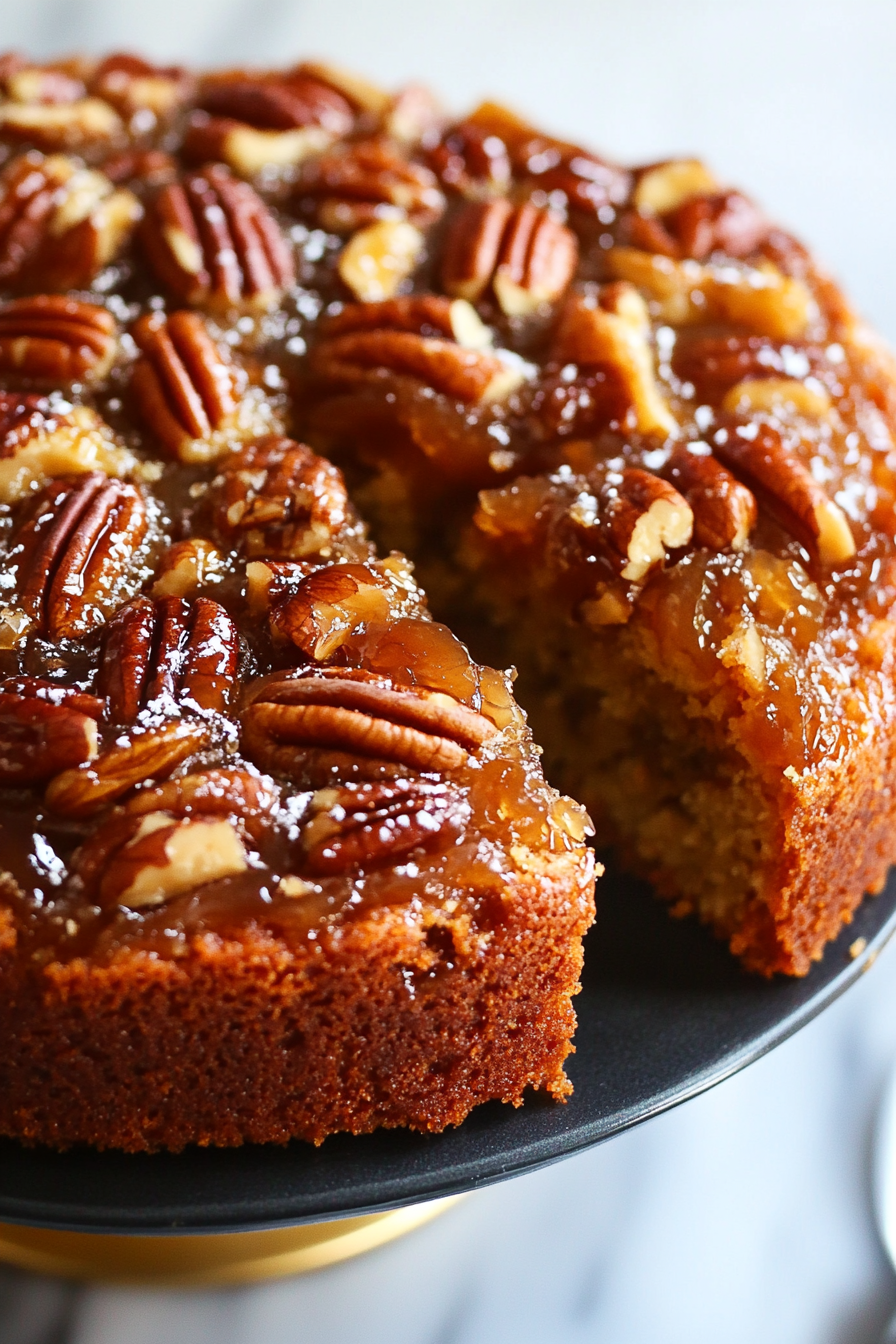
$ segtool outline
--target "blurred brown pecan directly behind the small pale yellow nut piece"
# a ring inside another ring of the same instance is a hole
[[[435,175],[383,137],[341,145],[309,164],[297,194],[317,199],[318,222],[336,234],[377,219],[426,227],[445,210]]]

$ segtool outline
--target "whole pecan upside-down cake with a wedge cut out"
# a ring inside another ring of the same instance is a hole
[[[895,382],[805,249],[329,66],[0,83],[0,1132],[568,1093],[588,823],[458,636],[805,973],[896,848]]]

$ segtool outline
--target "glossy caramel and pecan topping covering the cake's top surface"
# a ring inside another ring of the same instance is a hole
[[[704,165],[321,66],[3,69],[0,856],[36,956],[420,892],[486,927],[513,855],[582,841],[392,546],[449,606],[463,532],[639,632],[776,769],[891,712],[888,356]]]

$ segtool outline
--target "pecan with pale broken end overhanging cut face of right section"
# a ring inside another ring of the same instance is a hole
[[[668,481],[638,466],[607,472],[595,493],[583,492],[568,516],[609,555],[621,578],[638,583],[686,546],[693,534],[688,501]]]

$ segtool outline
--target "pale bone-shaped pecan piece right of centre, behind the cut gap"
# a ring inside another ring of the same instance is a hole
[[[553,340],[552,359],[580,368],[604,366],[625,388],[642,434],[674,434],[676,419],[657,387],[650,319],[631,285],[604,285],[599,296],[571,294]]]

